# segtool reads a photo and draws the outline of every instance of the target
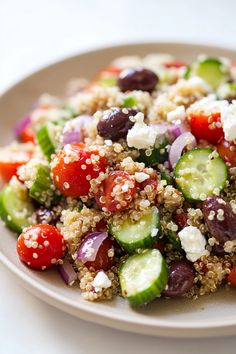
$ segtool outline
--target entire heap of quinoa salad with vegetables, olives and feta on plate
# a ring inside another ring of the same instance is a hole
[[[0,217],[26,267],[132,306],[236,286],[236,62],[117,58],[14,136]]]

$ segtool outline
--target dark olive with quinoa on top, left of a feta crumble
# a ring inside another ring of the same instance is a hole
[[[135,109],[131,108],[108,110],[97,125],[98,134],[113,141],[125,138],[128,130],[134,125],[130,117],[134,117],[137,113]]]

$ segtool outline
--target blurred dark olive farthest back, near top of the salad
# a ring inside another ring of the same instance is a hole
[[[118,85],[121,91],[142,90],[151,92],[158,83],[158,76],[149,69],[126,69],[119,75]]]

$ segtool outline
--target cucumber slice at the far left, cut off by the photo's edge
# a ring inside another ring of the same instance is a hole
[[[0,217],[9,229],[21,233],[25,227],[30,226],[29,217],[33,212],[33,205],[25,198],[25,194],[13,187],[11,183],[2,190]]]

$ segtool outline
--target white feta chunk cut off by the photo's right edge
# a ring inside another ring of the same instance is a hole
[[[223,107],[221,110],[221,122],[225,134],[225,139],[232,141],[236,139],[236,101]]]

